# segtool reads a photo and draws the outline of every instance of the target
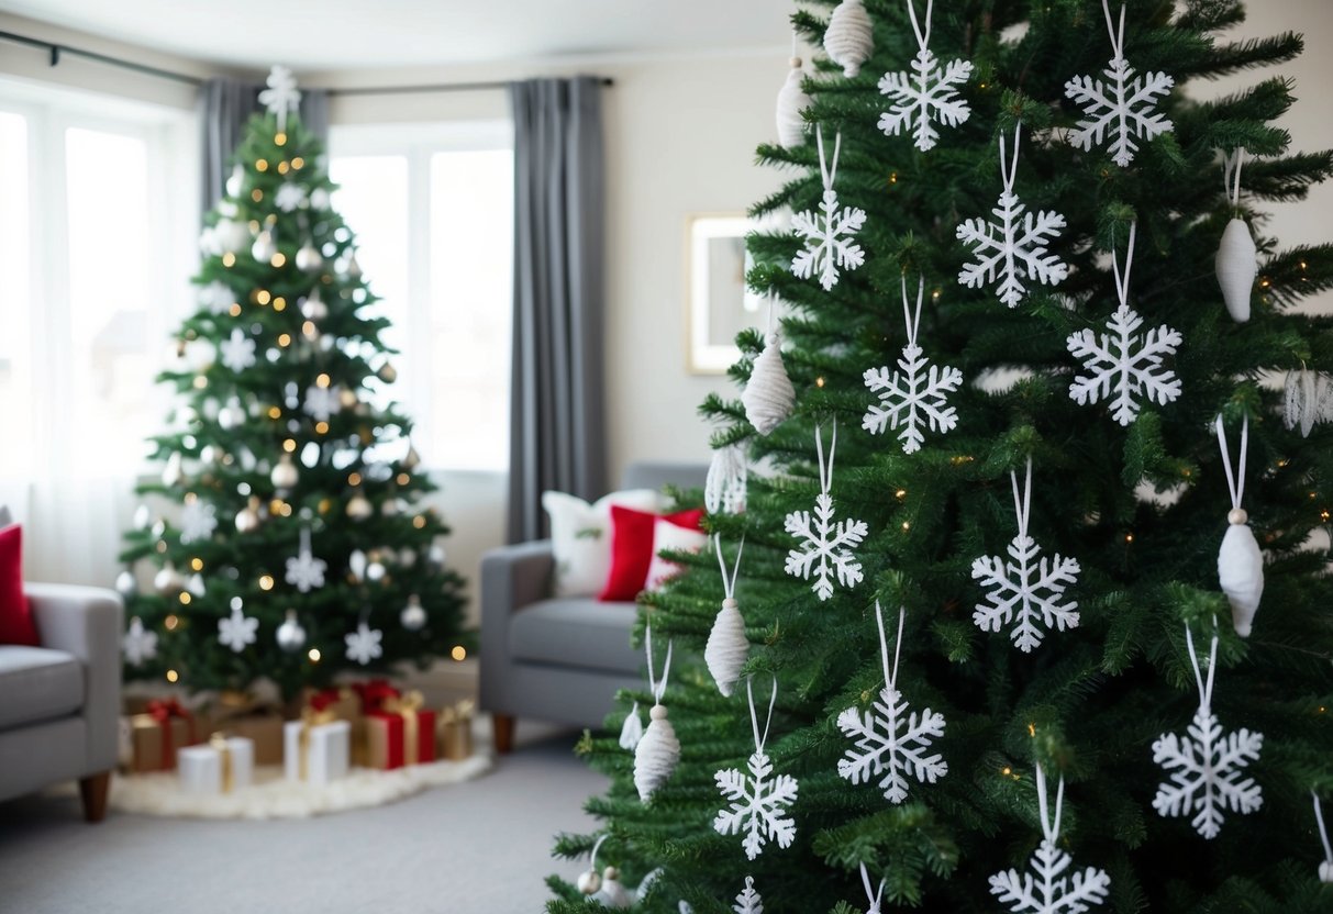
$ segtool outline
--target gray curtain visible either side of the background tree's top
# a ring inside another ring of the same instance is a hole
[[[245,121],[264,107],[259,104],[257,83],[227,76],[207,80],[200,88],[199,107],[203,127],[204,161],[201,169],[201,213],[217,205],[225,193],[227,176],[232,172],[232,153],[245,132]],[[329,116],[325,89],[301,89],[301,121],[323,143],[328,143]]]

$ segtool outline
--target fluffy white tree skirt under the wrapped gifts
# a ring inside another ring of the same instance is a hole
[[[471,781],[491,770],[489,755],[460,762],[409,765],[392,771],[353,767],[327,785],[288,781],[280,766],[255,769],[255,782],[229,794],[201,795],[181,790],[175,771],[117,774],[111,807],[123,813],[203,819],[283,819],[380,806],[429,787]]]

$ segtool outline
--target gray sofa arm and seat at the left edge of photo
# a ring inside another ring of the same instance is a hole
[[[40,648],[0,645],[0,801],[77,779],[107,810],[116,766],[123,609],[113,590],[29,584]]]

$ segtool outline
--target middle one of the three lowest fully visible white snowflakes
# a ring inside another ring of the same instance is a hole
[[[901,803],[908,798],[908,775],[922,783],[934,783],[949,773],[949,763],[938,753],[926,755],[930,742],[944,735],[944,714],[926,707],[920,717],[908,713],[908,702],[898,691],[898,656],[902,652],[902,621],[898,610],[897,646],[893,669],[889,669],[889,645],[884,637],[884,613],[874,601],[874,618],[880,625],[880,660],[884,665],[884,689],[864,714],[853,705],[837,717],[837,727],[856,746],[838,759],[837,773],[852,783],[869,783],[880,778],[884,798]],[[882,777],[881,777],[882,775]]]

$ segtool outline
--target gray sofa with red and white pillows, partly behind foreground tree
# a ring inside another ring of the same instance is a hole
[[[631,465],[621,489],[702,488],[704,464]],[[552,598],[551,541],[492,549],[481,558],[480,705],[496,750],[513,745],[516,718],[601,727],[619,689],[645,685],[629,644],[637,606],[596,597]]]

